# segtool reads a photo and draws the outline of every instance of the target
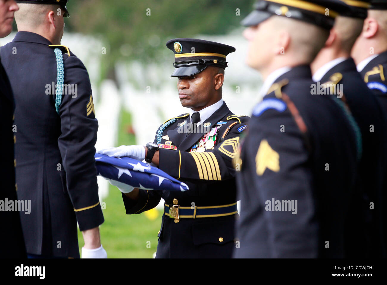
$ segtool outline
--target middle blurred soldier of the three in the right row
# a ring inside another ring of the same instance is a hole
[[[367,88],[350,57],[368,6],[366,2],[348,1],[340,8],[341,16],[336,17],[324,48],[311,67],[313,81],[332,86],[330,96],[343,96],[360,127],[363,155],[347,216],[345,247],[346,257],[369,258],[385,257],[382,197],[387,124],[382,105]]]

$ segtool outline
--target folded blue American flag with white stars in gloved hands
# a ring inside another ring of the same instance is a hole
[[[188,186],[164,171],[130,157],[95,154],[99,175],[146,190],[187,191]]]

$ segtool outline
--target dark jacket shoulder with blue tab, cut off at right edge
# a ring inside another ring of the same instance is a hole
[[[387,50],[377,55],[360,71],[367,84],[382,103],[387,112]]]

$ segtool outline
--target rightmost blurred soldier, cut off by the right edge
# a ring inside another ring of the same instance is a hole
[[[371,0],[363,31],[351,55],[367,84],[387,111],[387,1]]]

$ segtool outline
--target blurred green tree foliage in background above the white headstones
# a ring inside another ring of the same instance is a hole
[[[105,71],[118,60],[155,60],[170,38],[221,35],[240,26],[254,0],[82,0],[67,5],[66,26],[107,41]],[[97,48],[97,47],[96,47]],[[103,48],[103,47],[99,47]],[[109,74],[106,74],[107,76]],[[108,76],[110,77],[110,76]]]

